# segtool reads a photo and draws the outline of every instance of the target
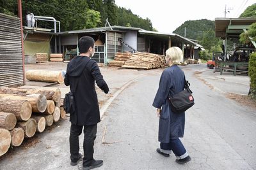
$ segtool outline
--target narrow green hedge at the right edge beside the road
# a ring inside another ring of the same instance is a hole
[[[256,99],[256,53],[250,55],[249,60],[249,76],[251,81],[251,96]]]

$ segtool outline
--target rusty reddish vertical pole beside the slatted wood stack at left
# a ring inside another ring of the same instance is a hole
[[[23,84],[25,85],[26,84],[26,80],[25,80],[25,55],[24,55],[23,26],[22,26],[22,4],[21,4],[21,0],[17,0],[17,3],[18,3],[19,18],[20,18]]]

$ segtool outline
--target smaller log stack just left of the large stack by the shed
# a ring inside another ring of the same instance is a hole
[[[115,55],[115,59],[111,60],[108,66],[122,67],[125,64],[125,61],[129,60],[131,56],[132,56],[132,53],[130,52],[125,52],[125,53],[117,52]]]

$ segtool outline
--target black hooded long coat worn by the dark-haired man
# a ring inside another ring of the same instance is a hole
[[[70,114],[70,122],[75,125],[94,125],[100,122],[100,111],[95,81],[100,89],[108,93],[108,85],[100,73],[95,60],[86,56],[76,56],[70,60],[65,75],[65,85],[70,85],[74,93],[76,112]]]

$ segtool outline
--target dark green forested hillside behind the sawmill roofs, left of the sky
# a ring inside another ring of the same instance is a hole
[[[115,4],[115,0],[22,0],[25,19],[30,11],[34,15],[54,17],[61,22],[61,31],[101,27],[108,18],[111,25],[140,27],[152,31],[150,19],[143,19]],[[0,13],[17,16],[17,0],[1,0]],[[41,27],[51,24],[40,22]]]

